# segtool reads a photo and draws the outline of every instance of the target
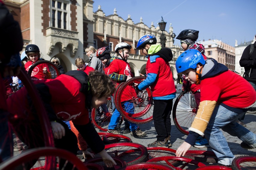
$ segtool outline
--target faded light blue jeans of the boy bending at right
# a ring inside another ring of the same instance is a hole
[[[220,129],[232,136],[237,136],[248,145],[256,146],[256,135],[236,123],[236,120],[241,114],[243,113],[232,112],[221,105],[216,106],[212,113],[205,130],[205,137],[209,141],[213,152],[218,157],[218,163],[230,166],[233,159],[235,159]]]

